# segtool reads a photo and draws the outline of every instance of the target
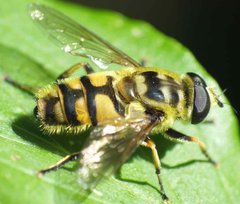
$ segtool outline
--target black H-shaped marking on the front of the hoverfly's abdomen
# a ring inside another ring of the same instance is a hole
[[[113,102],[116,112],[119,113],[120,115],[124,113],[123,107],[121,106],[120,103],[118,103],[116,99],[115,92],[112,87],[112,77],[107,76],[107,83],[103,86],[98,86],[98,87],[92,85],[88,76],[83,76],[81,77],[80,80],[86,90],[88,113],[93,125],[97,125],[97,118],[96,118],[97,107],[96,107],[96,101],[95,101],[95,96],[97,94],[107,95]]]

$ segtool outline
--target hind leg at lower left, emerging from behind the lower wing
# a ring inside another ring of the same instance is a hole
[[[38,171],[37,175],[39,177],[41,177],[41,176],[43,176],[46,173],[58,170],[59,168],[63,167],[64,164],[66,164],[66,163],[68,163],[70,161],[74,161],[74,160],[78,159],[79,157],[80,157],[80,152],[67,155],[66,157],[64,157],[63,159],[58,161],[56,164],[54,164],[54,165],[52,165],[52,166],[50,166],[50,167],[48,167],[46,169],[42,169],[42,170]]]

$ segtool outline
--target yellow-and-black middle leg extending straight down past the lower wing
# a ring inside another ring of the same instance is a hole
[[[163,199],[164,203],[167,204],[167,203],[169,203],[169,199],[168,199],[168,197],[165,193],[165,190],[164,190],[164,187],[163,187],[163,184],[162,184],[162,179],[161,179],[161,176],[160,176],[161,162],[160,162],[160,159],[159,159],[159,156],[158,156],[156,145],[154,144],[154,142],[149,137],[147,137],[141,143],[141,145],[144,146],[144,147],[148,147],[152,150],[153,162],[154,162],[154,166],[155,166],[155,169],[156,169],[158,182],[159,182],[159,185],[160,185],[160,193],[161,193],[161,196],[162,196],[162,199]]]

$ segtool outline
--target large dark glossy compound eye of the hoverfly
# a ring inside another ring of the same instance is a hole
[[[187,73],[194,83],[194,99],[192,110],[192,124],[203,121],[210,110],[210,97],[206,89],[205,81],[195,73]]]

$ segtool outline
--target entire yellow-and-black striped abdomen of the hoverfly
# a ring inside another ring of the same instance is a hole
[[[67,78],[37,94],[37,116],[46,126],[97,125],[124,114],[111,75]]]

